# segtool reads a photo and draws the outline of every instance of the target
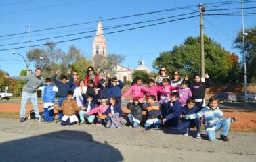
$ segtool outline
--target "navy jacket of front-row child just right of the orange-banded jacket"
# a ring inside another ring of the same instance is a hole
[[[168,104],[168,109],[169,109],[169,115],[165,117],[165,119],[173,119],[174,117],[177,117],[177,119],[180,119],[181,109],[182,105],[180,105],[179,100],[177,99],[176,101],[172,102],[173,106],[171,104]]]

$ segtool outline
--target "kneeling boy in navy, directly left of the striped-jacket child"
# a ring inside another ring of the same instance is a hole
[[[190,115],[197,113],[200,110],[200,108],[196,105],[196,101],[192,99],[191,97],[188,97],[186,105],[182,107],[181,114],[182,115]],[[181,119],[179,121],[179,124],[177,124],[177,130],[184,134],[184,136],[188,136],[188,132],[190,128],[194,128],[196,126],[197,130],[197,139],[201,139],[201,121],[200,118],[186,120]]]

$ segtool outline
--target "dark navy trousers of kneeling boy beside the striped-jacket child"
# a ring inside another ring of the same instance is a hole
[[[177,125],[177,130],[182,134],[188,133],[188,128],[194,128],[196,126],[196,131],[198,133],[201,132],[201,121],[200,119],[192,119],[192,120],[185,120],[181,121]]]

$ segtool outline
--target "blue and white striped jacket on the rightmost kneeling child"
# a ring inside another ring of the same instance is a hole
[[[203,116],[203,123],[205,129],[207,128],[214,128],[217,125],[217,122],[221,119],[224,119],[223,112],[219,107],[216,109],[211,109],[210,107],[204,107],[198,113],[185,115],[186,119],[196,119]]]

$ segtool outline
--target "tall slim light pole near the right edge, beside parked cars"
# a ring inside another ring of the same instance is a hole
[[[247,33],[244,33],[244,4],[243,0],[241,0],[241,9],[242,9],[242,51],[244,53],[244,103],[247,102],[247,57],[245,55],[245,38],[244,36]]]

